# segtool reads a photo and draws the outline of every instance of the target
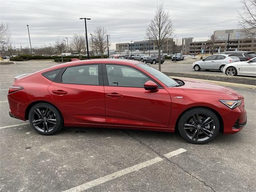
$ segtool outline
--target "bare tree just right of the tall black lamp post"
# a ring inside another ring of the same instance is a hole
[[[107,41],[107,30],[104,27],[97,27],[94,30],[93,45],[100,52],[100,57],[103,58],[104,51],[110,46],[109,35]]]

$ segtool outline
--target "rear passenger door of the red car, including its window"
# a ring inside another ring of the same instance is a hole
[[[104,124],[105,99],[101,64],[64,68],[48,91],[67,126]]]

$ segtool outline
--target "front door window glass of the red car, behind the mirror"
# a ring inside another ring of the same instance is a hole
[[[106,68],[110,86],[144,87],[145,82],[150,80],[140,71],[128,66],[107,64]]]

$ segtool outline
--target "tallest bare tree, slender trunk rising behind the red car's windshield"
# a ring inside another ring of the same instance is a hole
[[[170,18],[169,12],[165,12],[163,3],[161,3],[157,6],[154,19],[151,20],[146,30],[147,38],[150,38],[158,47],[159,61],[161,59],[161,46],[164,44],[166,38],[172,36],[173,32],[172,19]],[[159,70],[161,71],[161,62],[159,62]]]

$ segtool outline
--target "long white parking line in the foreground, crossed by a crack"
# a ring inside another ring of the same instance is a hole
[[[180,148],[178,150],[175,150],[175,151],[172,151],[168,154],[165,154],[164,156],[166,156],[167,158],[171,158],[175,155],[178,155],[178,154],[181,154],[183,152],[185,152],[186,150],[183,149],[183,148]],[[81,191],[84,191],[86,189],[89,189],[89,188],[92,188],[94,186],[97,186],[99,184],[102,184],[104,182],[107,182],[107,181],[110,181],[112,179],[115,179],[115,178],[118,178],[120,176],[123,176],[125,174],[128,174],[128,173],[131,173],[131,172],[134,172],[136,170],[140,170],[142,168],[145,168],[147,166],[150,166],[150,165],[153,165],[153,164],[156,164],[158,162],[161,162],[163,159],[161,157],[156,157],[154,159],[151,159],[151,160],[148,160],[148,161],[145,161],[145,162],[142,162],[140,164],[137,164],[137,165],[134,165],[132,167],[129,167],[129,168],[126,168],[126,169],[123,169],[123,170],[120,170],[120,171],[117,171],[117,172],[114,172],[112,174],[109,174],[109,175],[106,175],[104,177],[101,177],[101,178],[98,178],[98,179],[95,179],[95,180],[92,180],[90,182],[87,182],[85,184],[82,184],[82,185],[79,185],[79,186],[76,186],[74,188],[71,188],[71,189],[68,189],[64,192],[81,192]]]

